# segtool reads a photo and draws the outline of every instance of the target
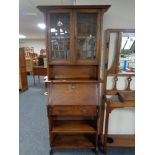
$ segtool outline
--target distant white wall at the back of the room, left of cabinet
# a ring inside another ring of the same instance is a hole
[[[34,52],[39,53],[45,48],[45,39],[22,39],[19,41],[19,47],[34,47]]]

